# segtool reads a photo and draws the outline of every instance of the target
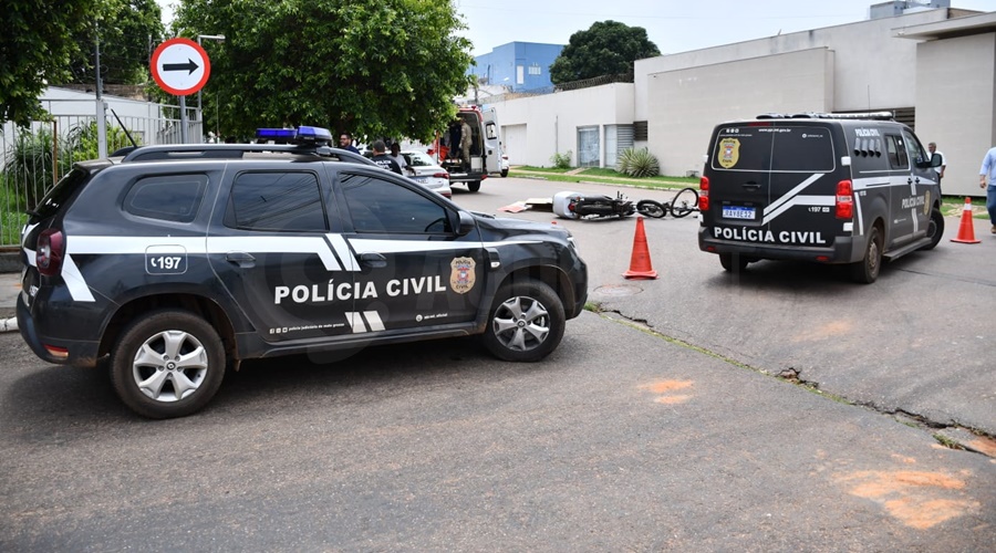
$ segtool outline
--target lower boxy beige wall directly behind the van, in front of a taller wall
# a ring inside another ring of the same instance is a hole
[[[833,60],[833,52],[820,48],[650,75],[647,148],[661,173],[701,173],[717,123],[831,111]]]

